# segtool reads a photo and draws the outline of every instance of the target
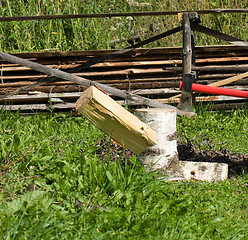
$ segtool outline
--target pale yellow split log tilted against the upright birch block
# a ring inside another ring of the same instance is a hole
[[[76,110],[135,154],[156,144],[156,132],[151,127],[94,86],[81,94]]]

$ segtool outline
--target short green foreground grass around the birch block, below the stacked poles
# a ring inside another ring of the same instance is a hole
[[[196,120],[178,118],[178,134],[211,142],[229,136],[227,148],[238,139],[233,150],[247,153],[247,131],[240,131],[247,113],[198,110]],[[0,117],[1,239],[246,239],[246,174],[168,183],[136,156],[100,159],[94,140],[103,134],[81,117]]]

